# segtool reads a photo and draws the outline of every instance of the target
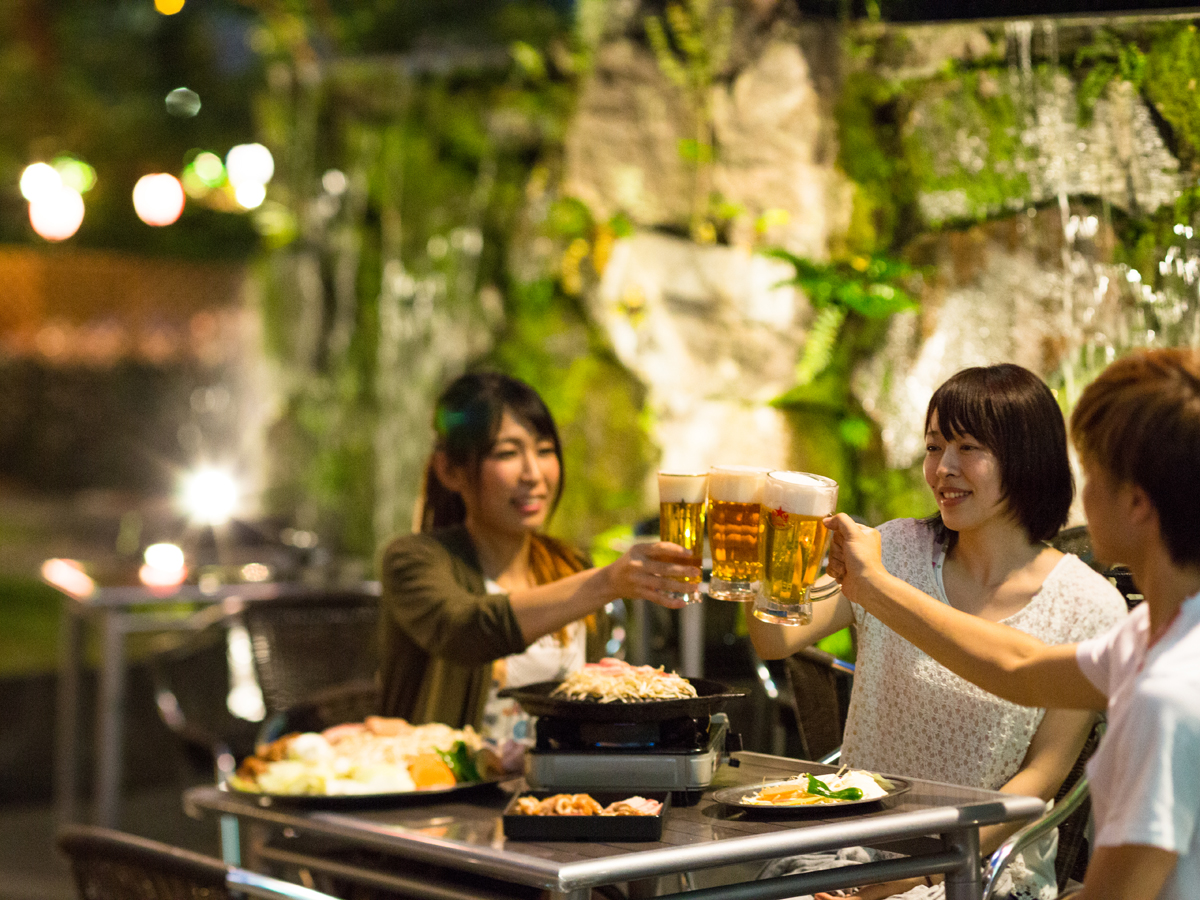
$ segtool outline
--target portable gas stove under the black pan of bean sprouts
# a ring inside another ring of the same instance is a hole
[[[700,792],[712,784],[727,752],[740,745],[725,713],[648,722],[540,716],[536,732],[535,745],[526,752],[526,780],[540,790]]]

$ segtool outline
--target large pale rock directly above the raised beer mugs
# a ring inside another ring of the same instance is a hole
[[[790,266],[661,234],[617,241],[590,312],[646,385],[661,466],[781,467],[790,438],[769,407],[792,383],[810,317],[778,287]]]

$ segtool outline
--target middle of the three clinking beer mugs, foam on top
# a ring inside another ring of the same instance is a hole
[[[709,596],[751,602],[762,577],[758,538],[762,492],[769,469],[714,466],[708,473],[708,546],[713,554]]]

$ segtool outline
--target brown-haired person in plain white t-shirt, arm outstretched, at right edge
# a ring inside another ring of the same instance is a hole
[[[839,515],[829,574],[842,593],[997,696],[1106,710],[1088,764],[1094,852],[1082,900],[1200,896],[1200,350],[1110,365],[1072,415],[1097,559],[1145,596],[1108,634],[1045,644],[938,602],[888,574],[878,532]]]

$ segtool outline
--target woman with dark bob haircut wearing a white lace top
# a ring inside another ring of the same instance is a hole
[[[937,514],[878,529],[883,566],[894,577],[935,602],[1048,643],[1092,637],[1124,617],[1124,599],[1104,577],[1045,544],[1067,521],[1074,484],[1062,412],[1032,372],[1010,364],[980,366],[942,384],[925,413],[924,475]],[[764,659],[854,629],[858,656],[842,763],[1054,798],[1094,724],[1092,713],[998,700],[893,634],[852,599],[839,593],[815,602],[810,625],[750,625]],[[980,829],[980,848],[990,853],[1019,827]],[[1055,847],[1051,835],[1009,868],[1007,896],[1055,895]],[[797,857],[772,864],[768,874],[822,869],[872,853],[878,851]],[[910,878],[870,886],[858,895],[942,896],[940,882],[941,876]]]

